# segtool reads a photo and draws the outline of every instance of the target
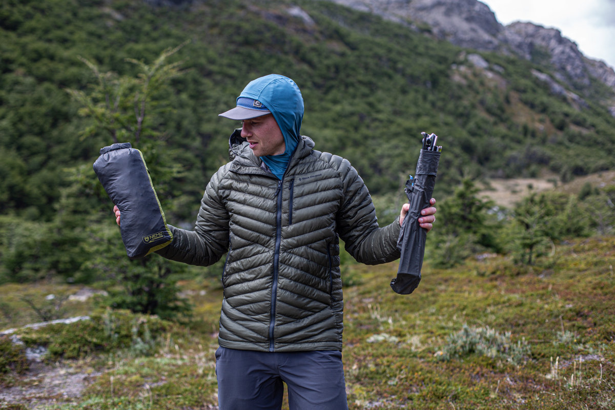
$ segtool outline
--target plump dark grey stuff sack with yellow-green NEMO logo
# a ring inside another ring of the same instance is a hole
[[[141,151],[130,143],[105,147],[94,162],[94,172],[121,213],[120,231],[130,259],[143,258],[172,242]]]

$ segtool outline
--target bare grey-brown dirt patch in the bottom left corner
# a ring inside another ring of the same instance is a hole
[[[79,371],[69,366],[31,362],[28,372],[13,387],[0,387],[0,404],[25,404],[31,409],[73,401],[100,372]]]

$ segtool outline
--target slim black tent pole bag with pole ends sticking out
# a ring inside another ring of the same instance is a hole
[[[405,187],[410,210],[403,219],[402,231],[397,240],[397,249],[402,253],[397,277],[391,280],[391,288],[399,294],[412,293],[421,282],[427,230],[419,226],[418,218],[421,217],[421,211],[430,205],[440,161],[438,150],[442,149],[437,146],[425,147],[425,143],[423,145],[424,149],[421,149],[416,164],[416,177],[410,177]]]

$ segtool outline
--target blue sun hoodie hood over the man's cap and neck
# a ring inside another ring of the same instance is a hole
[[[264,156],[261,160],[278,179],[282,179],[301,138],[299,130],[303,120],[303,97],[299,87],[288,77],[269,74],[250,81],[239,95],[239,98],[241,97],[260,101],[276,119],[284,135],[286,149],[284,154]]]

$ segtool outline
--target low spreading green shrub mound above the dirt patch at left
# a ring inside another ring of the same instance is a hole
[[[46,347],[47,360],[55,360],[82,358],[119,349],[149,355],[153,353],[158,336],[171,328],[172,323],[156,316],[108,309],[92,315],[90,320],[26,329],[20,336],[26,346]]]

